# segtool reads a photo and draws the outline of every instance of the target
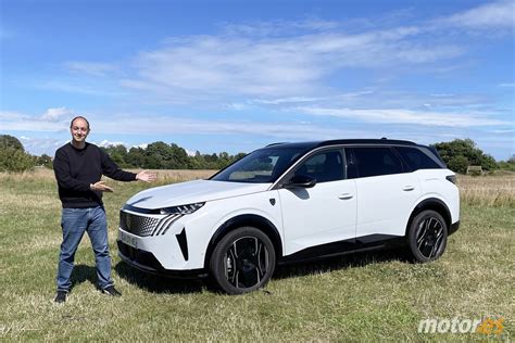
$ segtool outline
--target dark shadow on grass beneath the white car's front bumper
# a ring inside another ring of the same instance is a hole
[[[178,279],[147,274],[120,262],[114,270],[125,281],[151,293],[200,293],[205,287],[200,278]]]

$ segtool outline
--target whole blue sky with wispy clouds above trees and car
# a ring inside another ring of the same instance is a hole
[[[0,134],[249,152],[470,138],[515,153],[515,2],[0,0]]]

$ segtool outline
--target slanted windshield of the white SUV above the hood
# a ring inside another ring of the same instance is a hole
[[[211,180],[229,182],[275,182],[300,156],[306,152],[300,148],[264,148],[229,165]]]

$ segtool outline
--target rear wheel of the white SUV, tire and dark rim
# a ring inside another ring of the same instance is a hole
[[[416,263],[438,259],[447,246],[448,227],[443,217],[426,209],[413,218],[407,232],[409,250]]]

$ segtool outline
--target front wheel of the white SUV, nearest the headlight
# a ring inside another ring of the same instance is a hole
[[[253,227],[228,232],[216,244],[210,271],[216,285],[227,294],[252,292],[268,282],[276,254],[268,236]]]

